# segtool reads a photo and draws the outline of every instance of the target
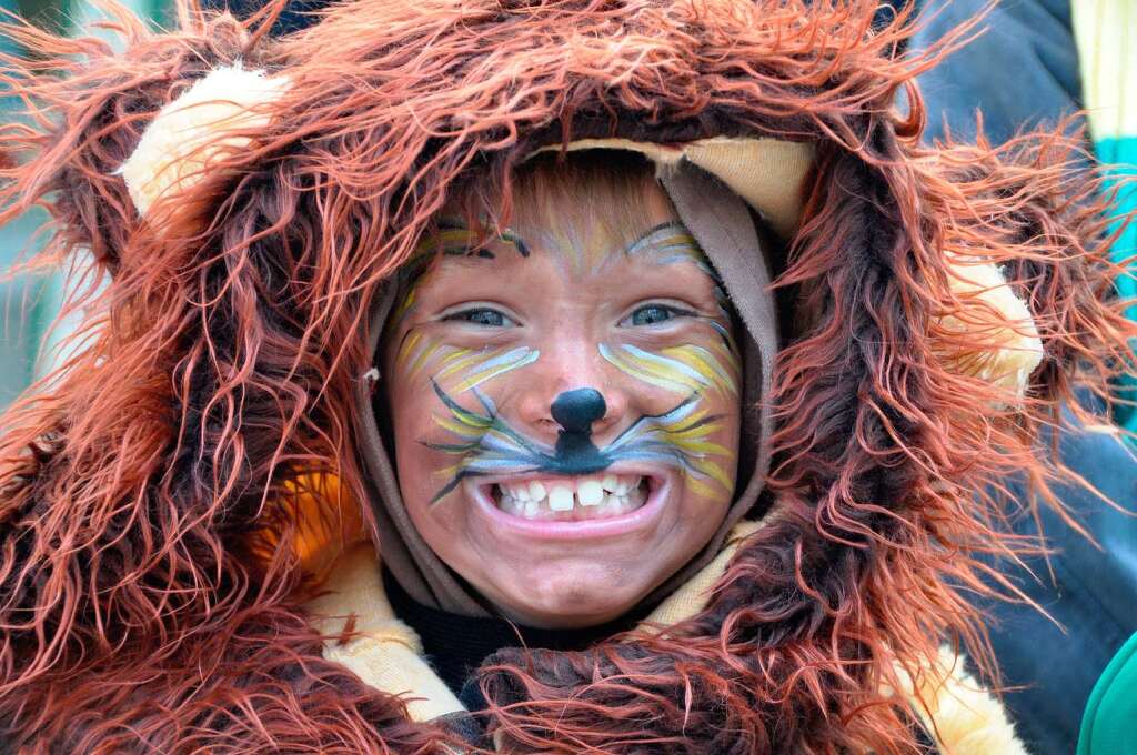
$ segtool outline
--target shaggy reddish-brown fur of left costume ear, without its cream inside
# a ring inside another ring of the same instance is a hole
[[[254,65],[246,50],[250,35],[231,16],[186,18],[175,35],[148,31],[125,9],[110,13],[107,25],[121,34],[125,51],[24,23],[0,31],[27,50],[26,58],[5,61],[5,83],[25,103],[27,117],[7,124],[0,139],[0,224],[34,205],[45,206],[55,218],[51,251],[83,248],[116,272],[139,227],[140,207],[130,194],[147,207],[157,196],[144,179],[128,192],[125,179],[143,174],[143,164],[153,169],[146,155],[169,152],[179,142],[192,146],[184,139],[189,134],[172,127],[165,132],[172,142],[151,139],[127,166],[148,126],[159,114],[173,124],[165,108],[190,92],[199,101],[216,93],[216,88],[196,85],[210,70],[238,67],[242,57],[246,69]],[[251,75],[244,74],[242,88]],[[182,119],[188,119],[184,111]],[[179,154],[185,154],[181,147]]]

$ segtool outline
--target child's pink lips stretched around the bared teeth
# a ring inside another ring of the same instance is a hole
[[[615,538],[655,524],[663,514],[664,501],[666,501],[667,495],[671,492],[670,475],[631,468],[611,468],[607,471],[614,474],[639,474],[646,478],[652,478],[653,481],[658,482],[658,484],[653,486],[652,491],[648,493],[647,501],[645,501],[644,505],[634,512],[607,518],[567,522],[526,520],[520,516],[513,516],[512,514],[506,514],[493,505],[493,501],[490,500],[490,497],[485,492],[497,482],[506,480],[524,480],[533,475],[518,474],[492,479],[471,478],[466,480],[463,489],[466,497],[472,499],[476,505],[476,511],[489,518],[495,528],[509,530],[533,540],[595,540]],[[542,479],[547,479],[547,475],[542,475]]]

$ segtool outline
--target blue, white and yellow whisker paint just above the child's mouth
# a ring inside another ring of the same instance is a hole
[[[641,416],[603,448],[592,445],[590,432],[582,430],[583,425],[576,422],[562,425],[556,447],[550,447],[514,428],[481,391],[474,390],[481,405],[479,412],[459,405],[438,383],[432,385],[447,408],[446,414],[435,416],[435,422],[453,434],[454,442],[426,445],[434,450],[459,456],[460,461],[439,472],[446,483],[431,503],[441,500],[470,476],[532,473],[582,475],[600,472],[617,462],[648,462],[677,468],[700,495],[713,495],[712,483],[719,483],[728,491],[733,486],[719,461],[730,459],[733,455],[722,445],[711,441],[720,429],[717,417],[699,408],[696,397],[664,414]],[[595,390],[591,392],[599,396]]]

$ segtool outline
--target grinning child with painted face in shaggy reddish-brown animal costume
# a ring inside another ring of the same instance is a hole
[[[1130,326],[1064,142],[924,151],[872,11],[10,28],[7,214],[113,276],[5,420],[15,746],[1023,752],[981,491]]]

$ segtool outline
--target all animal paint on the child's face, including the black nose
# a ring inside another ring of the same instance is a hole
[[[446,233],[448,235],[439,241],[445,254],[448,254],[445,244],[470,243],[474,237],[459,229],[449,229]],[[516,234],[512,235],[511,243],[526,249],[523,256],[528,256],[528,248]],[[573,244],[573,248],[578,246]],[[716,292],[721,291],[721,284],[703,252],[681,225],[657,225],[623,251],[623,256],[636,256],[653,264],[692,264],[714,281]],[[591,263],[603,269],[613,257],[619,255],[594,256]],[[571,258],[573,264],[581,260],[582,257]],[[410,299],[413,293],[414,289],[407,298]],[[709,347],[688,343],[648,351],[629,343],[598,345],[604,359],[623,373],[687,397],[665,414],[641,416],[604,449],[597,448],[591,439],[592,423],[605,413],[604,397],[595,389],[567,391],[553,401],[550,413],[561,425],[555,447],[526,438],[501,417],[485,393],[476,390],[487,380],[536,362],[539,356],[536,349],[473,350],[430,340],[417,332],[409,333],[396,356],[396,367],[410,378],[424,372],[430,375],[434,393],[447,409],[446,414],[435,416],[435,421],[454,435],[454,442],[423,442],[429,448],[463,456],[458,464],[440,472],[446,482],[432,503],[438,503],[468,476],[491,473],[583,475],[606,470],[617,461],[648,461],[677,467],[691,478],[692,490],[700,495],[713,492],[709,481],[719,481],[729,490],[731,482],[714,457],[731,455],[722,446],[708,441],[717,425],[713,417],[706,417],[706,412],[698,404],[708,390],[737,396],[738,357],[733,341],[722,338],[729,331],[721,323],[713,317],[697,317],[707,324],[719,325],[714,330],[720,338]],[[443,385],[449,385],[449,391]],[[468,390],[474,390],[484,413],[466,409],[451,397],[451,393]],[[688,423],[688,420],[691,422]]]

